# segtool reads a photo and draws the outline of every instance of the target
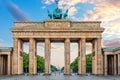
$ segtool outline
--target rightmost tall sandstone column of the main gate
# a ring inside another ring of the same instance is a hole
[[[103,55],[101,49],[101,38],[94,39],[92,73],[95,75],[103,74]]]

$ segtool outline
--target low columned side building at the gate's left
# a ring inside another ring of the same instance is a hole
[[[0,48],[0,75],[12,74],[12,48]]]

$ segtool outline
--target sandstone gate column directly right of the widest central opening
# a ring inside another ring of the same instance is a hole
[[[69,75],[70,74],[70,39],[65,39],[64,43],[64,48],[65,48],[65,67],[64,67],[64,74]]]

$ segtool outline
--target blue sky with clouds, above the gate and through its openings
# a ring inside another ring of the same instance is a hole
[[[69,10],[71,21],[102,21],[105,28],[102,34],[102,47],[120,47],[120,0],[59,0],[59,8]],[[54,0],[0,0],[0,47],[13,46],[10,28],[15,21],[44,21],[48,19],[47,10],[56,8]],[[52,43],[52,63],[63,66],[64,44]],[[29,44],[25,44],[28,50]],[[44,56],[44,44],[38,44],[38,54]],[[87,53],[90,53],[87,44]],[[77,57],[77,44],[71,44],[71,62]],[[54,57],[54,56],[62,57]],[[62,59],[61,59],[62,58]],[[58,60],[56,64],[55,59]],[[61,65],[62,64],[62,65]]]

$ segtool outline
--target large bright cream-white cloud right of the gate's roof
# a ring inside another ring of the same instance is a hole
[[[93,10],[87,11],[80,20],[102,21],[105,28],[103,39],[119,38],[120,36],[120,0],[93,0]]]

